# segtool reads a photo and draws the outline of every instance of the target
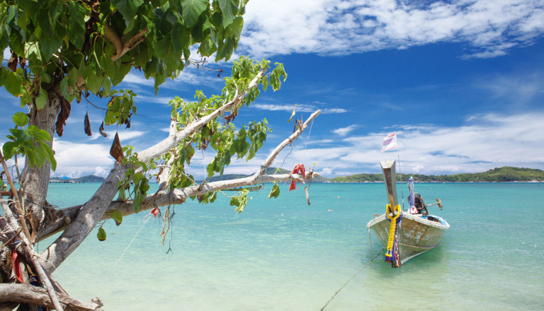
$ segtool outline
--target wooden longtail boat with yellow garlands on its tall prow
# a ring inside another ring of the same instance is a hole
[[[366,227],[373,230],[382,245],[387,246],[385,260],[391,262],[391,266],[396,268],[409,259],[438,247],[441,244],[444,231],[450,228],[450,225],[438,216],[401,211],[397,203],[395,161],[382,161],[380,165],[387,191],[387,212],[381,216],[376,214]],[[441,207],[440,200],[437,199],[437,201],[438,206]],[[391,209],[390,206],[395,206],[395,209]],[[426,206],[424,205],[424,207]],[[390,233],[394,235],[392,239],[390,239]]]

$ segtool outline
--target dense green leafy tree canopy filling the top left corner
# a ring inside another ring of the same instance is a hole
[[[115,90],[133,67],[154,78],[155,92],[189,64],[193,45],[215,61],[229,59],[242,33],[247,0],[8,0],[0,2],[0,49],[11,59],[0,86],[21,107],[45,107],[56,92],[65,104],[94,93],[112,97],[123,124],[136,112],[132,93]],[[66,106],[66,105],[65,105]],[[68,110],[67,107],[63,107]],[[57,120],[57,134],[69,110]]]

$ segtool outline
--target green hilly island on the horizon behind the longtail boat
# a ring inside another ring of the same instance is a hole
[[[410,172],[402,173],[402,181],[409,176],[414,182],[544,182],[544,171],[533,168],[514,168],[504,166],[487,172],[463,173],[455,175],[421,175]],[[397,182],[401,175],[397,172]],[[382,182],[382,174],[356,174],[334,177],[329,182]]]

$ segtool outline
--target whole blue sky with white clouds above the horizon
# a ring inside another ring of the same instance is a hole
[[[249,55],[283,63],[288,78],[268,89],[235,124],[266,118],[273,130],[253,160],[233,161],[225,173],[251,174],[293,131],[296,106],[303,119],[321,110],[274,167],[297,163],[324,177],[380,172],[380,160],[397,160],[397,172],[440,175],[484,172],[502,166],[544,170],[544,1],[250,0],[244,31],[232,59]],[[8,55],[4,52],[4,61]],[[137,93],[130,129],[106,127],[103,112],[72,103],[64,135],[55,136],[52,176],[105,177],[113,168],[115,131],[142,151],[168,135],[175,96],[195,90],[219,94],[232,64],[188,67],[154,95],[154,81],[132,71],[119,88]],[[89,97],[94,105],[107,102]],[[0,137],[21,110],[0,89]],[[89,113],[93,136],[84,134]],[[380,152],[397,134],[398,147]],[[5,141],[6,139],[4,139]],[[1,141],[1,139],[0,139]],[[202,178],[213,153],[197,151],[191,174]]]

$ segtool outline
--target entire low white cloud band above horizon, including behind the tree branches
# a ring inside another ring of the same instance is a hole
[[[517,166],[544,169],[544,153],[535,152],[544,146],[544,112],[519,115],[486,114],[467,118],[460,127],[397,125],[398,148],[380,153],[383,137],[390,129],[350,136],[343,140],[329,139],[294,143],[285,148],[273,163],[274,167],[290,170],[297,163],[311,167],[325,177],[379,172],[380,160],[401,158],[403,173],[427,175],[483,172],[495,167]],[[345,130],[354,129],[357,124]],[[334,142],[334,143],[331,143]],[[317,147],[319,145],[319,147]],[[316,146],[316,147],[309,147]],[[57,171],[55,176],[106,176],[113,165],[109,144],[69,143],[57,139]],[[261,165],[273,146],[265,146],[249,162],[232,159],[225,174],[251,174]],[[292,149],[291,149],[292,148]],[[193,158],[188,172],[201,179],[205,165],[212,160],[211,151]]]

